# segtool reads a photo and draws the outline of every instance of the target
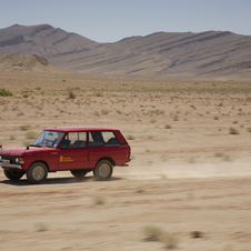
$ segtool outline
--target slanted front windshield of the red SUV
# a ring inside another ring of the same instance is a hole
[[[42,133],[31,144],[31,147],[57,148],[63,135],[64,135],[64,132],[42,131]]]

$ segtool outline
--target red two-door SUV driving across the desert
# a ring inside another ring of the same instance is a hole
[[[8,179],[19,180],[26,173],[31,183],[43,182],[48,172],[66,170],[77,178],[93,171],[98,180],[106,180],[114,165],[127,165],[130,154],[118,129],[48,128],[29,147],[0,150],[0,165]]]

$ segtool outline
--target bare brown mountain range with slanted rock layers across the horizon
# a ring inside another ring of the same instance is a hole
[[[0,29],[0,53],[39,54],[86,74],[178,79],[251,78],[251,36],[155,32],[98,43],[49,24]]]

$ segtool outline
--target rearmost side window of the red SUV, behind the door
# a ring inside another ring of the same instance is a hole
[[[112,131],[91,131],[89,132],[89,147],[112,147],[120,145]]]

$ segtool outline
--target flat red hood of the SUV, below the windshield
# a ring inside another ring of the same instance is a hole
[[[20,148],[7,148],[3,150],[0,150],[0,155],[18,155],[22,157],[24,153],[32,154],[32,153],[39,153],[39,152],[47,152],[47,151],[53,151],[54,149],[51,148],[37,148],[37,147],[29,147],[29,150],[27,147],[20,147]]]

